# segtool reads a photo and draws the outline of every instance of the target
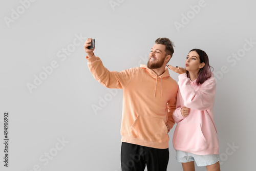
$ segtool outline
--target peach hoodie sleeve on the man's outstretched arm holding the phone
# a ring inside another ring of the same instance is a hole
[[[103,66],[99,57],[93,55],[92,57],[86,57],[88,60],[88,67],[93,74],[94,78],[99,81],[106,88],[122,89],[132,78],[131,70],[123,70],[121,72],[109,71]]]

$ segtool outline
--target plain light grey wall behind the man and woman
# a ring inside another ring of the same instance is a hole
[[[158,37],[175,42],[170,65],[184,67],[193,48],[206,51],[217,75],[215,123],[221,169],[253,170],[254,1],[21,2],[0,5],[1,170],[121,170],[122,91],[109,92],[91,75],[83,50],[88,37],[96,39],[95,54],[111,71],[145,64]],[[203,7],[194,12],[191,6],[196,5]],[[7,17],[16,19],[8,23]],[[175,23],[182,22],[177,29]],[[65,54],[63,49],[68,48]],[[44,75],[42,67],[54,61],[58,67]],[[31,93],[27,84],[34,84],[34,75],[40,74],[47,78]],[[178,74],[170,75],[178,81]],[[8,168],[3,166],[4,112],[10,114]],[[172,146],[174,129],[169,133],[168,170],[182,170]]]

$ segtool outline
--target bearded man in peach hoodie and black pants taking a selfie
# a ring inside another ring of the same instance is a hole
[[[158,38],[147,66],[123,70],[106,69],[99,57],[89,50],[91,38],[84,44],[88,66],[103,86],[123,89],[121,124],[121,167],[126,170],[165,171],[169,160],[168,132],[175,121],[177,82],[165,67],[173,56],[173,43]]]

